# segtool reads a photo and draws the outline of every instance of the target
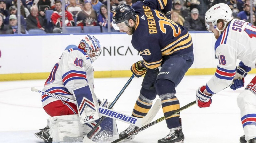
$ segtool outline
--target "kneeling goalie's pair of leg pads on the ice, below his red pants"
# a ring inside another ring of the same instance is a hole
[[[66,115],[48,118],[47,125],[52,142],[82,142],[84,135],[90,132],[98,121],[82,124],[78,115]],[[116,126],[116,122],[106,117],[92,138],[112,137],[116,132],[118,134],[113,125]]]

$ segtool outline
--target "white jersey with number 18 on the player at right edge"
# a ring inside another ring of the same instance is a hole
[[[215,43],[219,64],[206,89],[215,94],[228,87],[236,74],[237,59],[245,66],[255,68],[256,27],[243,20],[233,19]]]

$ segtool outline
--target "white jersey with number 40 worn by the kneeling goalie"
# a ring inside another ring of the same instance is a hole
[[[93,67],[89,56],[79,48],[65,50],[44,84],[43,91],[75,100],[72,91],[90,85],[94,89]],[[42,94],[43,107],[56,99]]]

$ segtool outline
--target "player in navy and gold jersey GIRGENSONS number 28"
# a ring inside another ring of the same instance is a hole
[[[171,8],[171,0],[144,0],[132,6],[120,4],[113,13],[113,27],[132,35],[132,46],[143,58],[131,66],[136,77],[145,74],[132,112],[134,117],[144,117],[157,95],[161,99],[164,115],[180,108],[175,87],[193,64],[194,55],[188,31],[164,15]],[[167,118],[166,123],[170,132],[158,143],[182,143],[184,134],[180,113]],[[130,125],[119,137],[137,128]]]

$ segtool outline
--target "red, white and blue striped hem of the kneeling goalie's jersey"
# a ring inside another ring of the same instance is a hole
[[[45,90],[45,92],[49,92],[51,94],[55,94],[55,95],[63,95],[63,96],[73,96],[73,94],[71,94],[67,88],[64,87],[52,87],[50,89]],[[42,94],[42,102],[44,102],[46,99],[50,98],[51,96]],[[52,97],[53,98],[53,97]]]

